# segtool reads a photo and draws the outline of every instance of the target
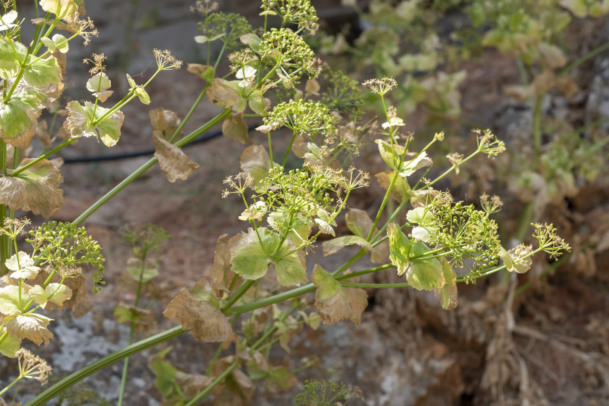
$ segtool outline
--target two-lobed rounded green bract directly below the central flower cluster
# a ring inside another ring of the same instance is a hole
[[[267,253],[275,253],[280,237],[266,227],[259,227],[258,235],[255,229],[250,228],[247,234],[241,233],[234,241],[231,246],[231,265],[235,273],[245,279],[259,279],[266,275],[269,265],[274,263],[277,281],[284,286],[300,285],[309,280],[305,259],[300,255],[300,251],[287,255],[294,250],[294,243],[288,239],[284,240],[275,254],[275,257],[280,259],[272,261],[267,257]]]

